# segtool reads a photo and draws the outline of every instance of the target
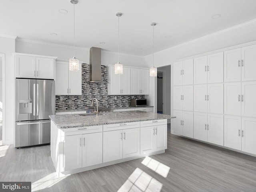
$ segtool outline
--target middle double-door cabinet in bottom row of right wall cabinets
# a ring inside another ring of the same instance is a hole
[[[194,112],[194,138],[224,145],[223,115]]]

